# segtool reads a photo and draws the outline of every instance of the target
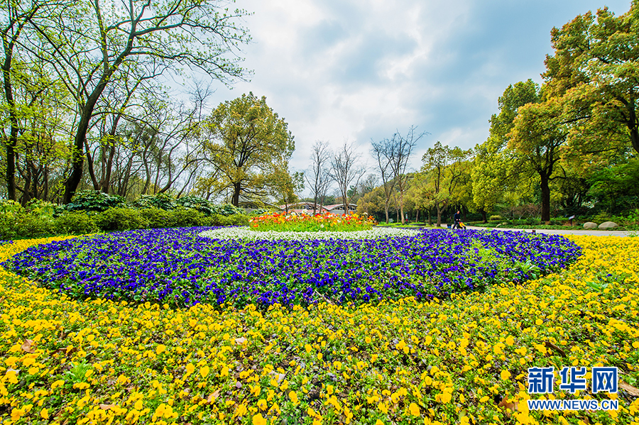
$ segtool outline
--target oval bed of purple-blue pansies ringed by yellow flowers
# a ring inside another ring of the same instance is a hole
[[[566,267],[562,236],[415,231],[364,241],[224,241],[207,228],[125,231],[38,245],[3,266],[72,297],[190,306],[445,297]]]

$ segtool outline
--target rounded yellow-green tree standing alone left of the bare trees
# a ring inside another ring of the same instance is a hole
[[[214,168],[207,177],[217,192],[231,189],[231,204],[240,197],[268,195],[281,165],[295,150],[288,124],[253,93],[219,104],[202,123],[207,161]]]

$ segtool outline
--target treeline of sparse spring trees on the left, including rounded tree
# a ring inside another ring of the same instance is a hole
[[[163,86],[195,71],[224,84],[249,74],[237,55],[250,40],[238,24],[248,13],[228,6],[7,1],[0,197],[69,204],[92,189],[238,205],[293,190],[293,136],[265,98],[245,94],[209,111],[210,84],[195,82],[188,100]]]

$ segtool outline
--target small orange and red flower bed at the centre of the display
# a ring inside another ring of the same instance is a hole
[[[372,228],[376,224],[373,217],[358,214],[262,214],[249,220],[249,228],[255,231],[275,232],[351,232]]]

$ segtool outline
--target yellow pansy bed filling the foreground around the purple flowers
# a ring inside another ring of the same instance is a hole
[[[639,424],[639,238],[572,241],[541,280],[359,308],[80,302],[0,268],[0,424]],[[618,410],[529,412],[528,368],[573,365],[618,367]]]

